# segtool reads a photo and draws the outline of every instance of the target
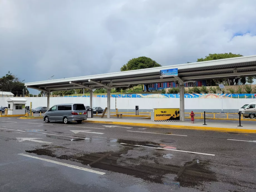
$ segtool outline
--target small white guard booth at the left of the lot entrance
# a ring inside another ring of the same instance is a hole
[[[8,115],[24,115],[26,99],[10,97],[8,102]]]

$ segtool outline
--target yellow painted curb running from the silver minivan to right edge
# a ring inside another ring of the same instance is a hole
[[[163,124],[130,123],[130,122],[115,122],[115,121],[93,121],[93,120],[84,120],[84,122],[131,125],[131,126],[154,127],[154,128],[194,129],[194,130],[204,130],[204,131],[256,133],[256,130],[254,129],[233,129],[233,128],[220,128],[220,127],[199,127],[199,126],[185,126],[185,125],[163,125]]]

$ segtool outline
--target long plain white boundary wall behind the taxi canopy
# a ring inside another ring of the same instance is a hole
[[[32,108],[47,106],[47,97],[24,97],[27,100],[26,106],[32,102]],[[0,97],[0,107],[7,107],[8,97]],[[238,109],[245,104],[256,102],[255,99],[223,99],[223,111],[238,112]],[[82,103],[90,105],[89,97],[50,97],[50,107],[55,104]],[[115,109],[115,98],[110,100],[110,108]],[[179,108],[179,98],[116,98],[119,111],[135,111],[135,105],[139,105],[139,110],[152,111],[153,108]],[[107,107],[107,98],[93,97],[93,106]],[[185,110],[194,112],[220,112],[221,99],[199,99],[185,98]]]

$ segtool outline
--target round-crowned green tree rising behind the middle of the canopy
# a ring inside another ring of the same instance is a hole
[[[162,65],[158,64],[156,61],[152,60],[151,58],[142,56],[138,58],[133,58],[129,60],[126,64],[124,64],[120,71],[130,71],[130,70],[137,70],[137,69],[147,69],[153,67],[162,67]],[[149,92],[148,84],[145,84],[147,92]]]

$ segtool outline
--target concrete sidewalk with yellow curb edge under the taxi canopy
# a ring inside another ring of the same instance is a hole
[[[200,129],[200,130],[211,130],[211,131],[236,131],[236,132],[252,132],[256,133],[255,124],[243,124],[243,127],[238,127],[237,124],[227,122],[207,122],[207,125],[203,125],[203,122],[196,122],[191,124],[190,120],[184,122],[152,122],[150,119],[145,118],[123,118],[119,119],[116,117],[107,118],[88,118],[85,122],[96,122],[96,123],[108,123],[108,124],[125,124],[133,126],[144,126],[144,127],[165,127],[165,128],[176,128],[176,129]]]

